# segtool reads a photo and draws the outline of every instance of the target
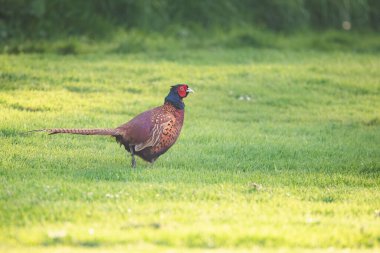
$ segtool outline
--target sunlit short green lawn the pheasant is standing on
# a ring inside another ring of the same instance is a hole
[[[0,55],[1,252],[380,250],[378,53]],[[153,165],[115,127],[196,93]]]

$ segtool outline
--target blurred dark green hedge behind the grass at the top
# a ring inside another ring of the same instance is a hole
[[[132,30],[173,37],[234,29],[376,32],[379,24],[378,0],[0,0],[3,45],[67,36],[109,40]]]

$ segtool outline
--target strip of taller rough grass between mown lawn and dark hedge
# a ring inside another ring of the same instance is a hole
[[[173,56],[173,51],[188,49],[279,49],[316,50],[321,52],[348,51],[360,53],[380,52],[379,36],[371,32],[303,31],[294,34],[273,33],[267,30],[240,27],[212,31],[176,28],[160,33],[140,30],[115,31],[103,40],[86,36],[61,39],[23,40],[20,38],[0,40],[0,53],[54,53],[58,55],[132,54],[160,52]],[[177,54],[174,54],[177,59]]]

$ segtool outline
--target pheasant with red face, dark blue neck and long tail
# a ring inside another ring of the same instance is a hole
[[[183,125],[183,98],[194,92],[186,84],[171,87],[163,105],[145,111],[129,122],[105,129],[41,129],[49,134],[109,135],[125,147],[132,156],[132,167],[136,167],[135,155],[153,163],[176,142]]]

